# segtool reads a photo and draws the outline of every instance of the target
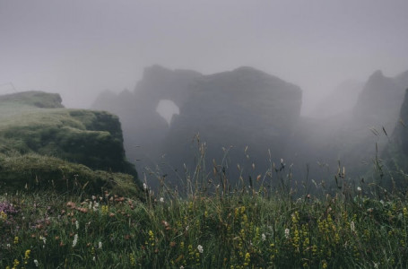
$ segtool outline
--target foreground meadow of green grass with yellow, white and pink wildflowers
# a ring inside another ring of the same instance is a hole
[[[214,169],[214,172],[216,170]],[[161,180],[163,180],[161,178]],[[408,202],[369,194],[144,183],[111,195],[0,196],[2,268],[395,268],[408,266]],[[188,182],[187,182],[188,183]]]

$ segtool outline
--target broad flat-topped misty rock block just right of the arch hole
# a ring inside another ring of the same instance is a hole
[[[222,147],[231,146],[230,165],[256,163],[265,172],[271,165],[268,150],[275,160],[282,157],[300,106],[298,86],[251,67],[203,76],[191,86],[188,101],[170,126],[166,152],[174,156],[170,160],[176,156],[184,157],[180,162],[194,160],[191,140],[200,134],[209,161],[221,162]],[[181,168],[181,163],[174,166]]]

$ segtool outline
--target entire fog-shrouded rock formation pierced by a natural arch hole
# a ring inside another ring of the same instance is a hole
[[[171,100],[179,108],[170,125],[156,111],[160,100]],[[230,164],[242,164],[237,156],[247,160],[247,152],[265,164],[268,149],[279,160],[300,106],[298,86],[251,67],[203,75],[153,65],[131,95],[112,98],[104,93],[93,108],[119,115],[126,152],[142,159],[140,166],[159,164],[166,153],[168,164],[181,169],[184,162],[194,165],[195,134],[206,142],[208,160],[221,159],[221,148],[230,146]]]

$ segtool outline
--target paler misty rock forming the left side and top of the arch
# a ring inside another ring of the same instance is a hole
[[[172,100],[178,107],[187,101],[189,85],[202,76],[195,71],[169,70],[159,65],[147,67],[135,91],[118,95],[104,92],[92,108],[117,114],[124,130],[127,157],[140,168],[159,160],[169,124],[156,111],[161,100]],[[114,95],[114,96],[113,96]]]

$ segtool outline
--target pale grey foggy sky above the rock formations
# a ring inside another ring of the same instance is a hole
[[[407,70],[407,14],[406,0],[0,0],[0,84],[88,107],[147,65],[252,65],[298,84],[308,111],[344,80]]]

